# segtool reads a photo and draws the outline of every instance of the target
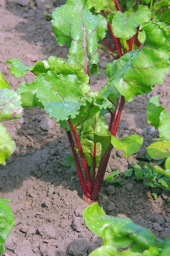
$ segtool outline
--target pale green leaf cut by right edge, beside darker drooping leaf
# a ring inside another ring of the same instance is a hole
[[[159,119],[159,137],[170,141],[170,114],[167,113],[166,109],[161,112]]]

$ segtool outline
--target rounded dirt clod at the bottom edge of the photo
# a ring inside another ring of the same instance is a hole
[[[86,256],[88,251],[88,241],[85,239],[75,239],[68,247],[66,254],[71,256]]]

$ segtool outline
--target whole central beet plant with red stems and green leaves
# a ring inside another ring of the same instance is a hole
[[[44,108],[65,128],[85,197],[97,201],[113,147],[130,157],[142,145],[142,137],[134,134],[119,140],[116,132],[125,102],[150,93],[155,83],[164,81],[169,66],[168,35],[163,25],[144,23],[140,49],[120,53],[119,60],[107,65],[108,83],[93,92],[90,76],[99,74],[97,41],[105,38],[107,20],[93,15],[86,0],[68,0],[53,12],[52,24],[58,44],[68,44],[66,62],[50,56],[32,67],[17,58],[6,63],[16,77],[27,70],[36,75],[34,82],[17,89],[22,106]],[[111,114],[110,125],[105,113]]]

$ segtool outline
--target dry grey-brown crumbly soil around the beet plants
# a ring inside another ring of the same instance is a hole
[[[64,1],[0,0],[0,71],[12,89],[21,82],[32,81],[30,73],[14,78],[5,60],[17,57],[24,64],[56,55],[65,59],[68,48],[59,47],[42,11],[52,11]],[[42,9],[42,11],[40,10]],[[92,90],[99,90],[107,81],[105,65],[111,58],[99,50],[101,76],[92,76]],[[156,85],[151,95],[136,97],[126,103],[118,137],[139,134],[144,144],[139,153],[126,159],[122,151],[113,150],[108,172],[131,167],[135,159],[146,160],[145,148],[157,131],[147,124],[146,106],[151,96],[160,95],[160,102],[170,111],[170,76],[163,85]],[[4,122],[16,142],[16,150],[5,167],[0,167],[0,198],[10,198],[16,221],[6,241],[8,256],[86,256],[102,244],[91,233],[82,217],[87,204],[75,172],[66,166],[65,155],[71,154],[64,129],[49,119],[40,108],[25,109],[22,119]],[[107,174],[106,174],[107,175]],[[170,236],[170,195],[159,191],[153,199],[149,187],[134,177],[123,186],[103,183],[100,202],[106,214],[127,215],[136,224],[148,228],[160,239]]]

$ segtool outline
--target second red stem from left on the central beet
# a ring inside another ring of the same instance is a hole
[[[71,131],[73,132],[74,138],[75,138],[76,143],[77,143],[77,148],[79,150],[79,155],[80,155],[80,158],[81,158],[81,161],[82,161],[82,167],[83,167],[84,174],[85,174],[85,181],[86,181],[86,184],[87,184],[88,193],[91,194],[91,178],[90,178],[90,175],[89,175],[89,168],[88,168],[88,164],[87,164],[86,159],[85,159],[85,155],[82,151],[82,145],[81,145],[81,142],[79,140],[79,135],[77,134],[77,131],[74,128],[70,119],[68,119],[67,121],[68,121],[68,124],[70,125]]]

